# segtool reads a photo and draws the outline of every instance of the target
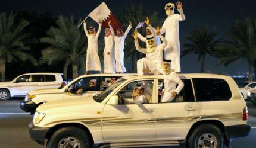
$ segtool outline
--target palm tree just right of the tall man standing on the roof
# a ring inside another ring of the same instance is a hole
[[[204,73],[205,56],[213,55],[214,49],[221,39],[214,40],[216,36],[215,28],[208,30],[208,26],[204,25],[201,29],[195,29],[190,36],[186,37],[191,43],[184,44],[186,49],[182,52],[181,57],[189,53],[199,54],[198,61],[200,61],[200,73]]]

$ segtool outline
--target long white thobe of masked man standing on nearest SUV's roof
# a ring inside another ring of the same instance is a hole
[[[161,28],[161,34],[166,33],[165,37],[168,42],[164,54],[166,59],[171,59],[171,69],[175,72],[180,72],[179,21],[185,20],[185,16],[182,17],[182,15],[169,15]]]

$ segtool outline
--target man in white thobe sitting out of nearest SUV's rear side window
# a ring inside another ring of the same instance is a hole
[[[179,75],[171,69],[171,60],[164,59],[161,73],[164,75],[164,89],[162,91],[161,102],[171,102],[182,90],[184,83]]]

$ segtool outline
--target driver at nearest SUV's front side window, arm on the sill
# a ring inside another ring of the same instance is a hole
[[[123,99],[125,104],[143,104],[147,103],[148,99],[144,95],[142,84],[137,84],[137,88],[133,90],[132,99]]]

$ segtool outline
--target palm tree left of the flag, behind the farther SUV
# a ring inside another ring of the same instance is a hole
[[[68,66],[72,65],[72,77],[77,78],[78,70],[83,65],[86,57],[87,40],[83,27],[77,28],[81,20],[74,21],[70,18],[58,17],[57,28],[51,27],[47,33],[48,37],[40,38],[42,43],[51,46],[42,50],[41,63],[56,65],[64,62],[64,75],[67,76]]]

